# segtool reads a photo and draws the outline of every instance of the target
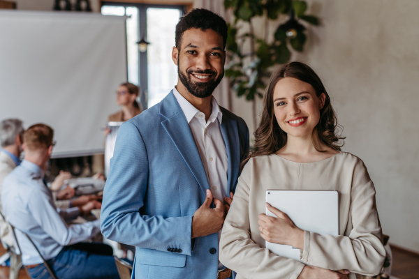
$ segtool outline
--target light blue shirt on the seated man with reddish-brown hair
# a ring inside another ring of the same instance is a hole
[[[27,160],[13,169],[1,187],[3,213],[9,223],[34,241],[44,259],[57,256],[64,246],[89,239],[100,232],[100,220],[67,225],[79,215],[78,208],[57,209],[50,190],[43,183],[43,170]],[[43,261],[29,240],[16,231],[24,265]]]

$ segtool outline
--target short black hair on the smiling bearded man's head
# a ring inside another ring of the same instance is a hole
[[[193,28],[201,29],[202,31],[207,29],[216,31],[216,33],[219,33],[223,37],[223,48],[226,47],[228,30],[226,20],[216,13],[212,13],[210,10],[196,8],[181,17],[179,23],[176,25],[175,46],[178,50],[180,50],[180,45],[182,44],[182,35],[184,31]]]

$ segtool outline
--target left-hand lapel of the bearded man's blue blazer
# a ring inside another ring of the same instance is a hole
[[[172,139],[186,165],[191,169],[193,176],[198,181],[205,195],[205,191],[210,189],[210,185],[198,148],[193,139],[191,128],[189,128],[182,108],[177,103],[172,92],[161,101],[160,106],[160,114],[167,118],[161,122],[161,125],[165,128],[170,139]]]

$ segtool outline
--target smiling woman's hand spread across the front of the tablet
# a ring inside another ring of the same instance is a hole
[[[260,236],[271,243],[290,245],[303,250],[304,231],[295,226],[293,220],[286,213],[268,203],[266,206],[277,218],[266,216],[265,213],[259,215]]]

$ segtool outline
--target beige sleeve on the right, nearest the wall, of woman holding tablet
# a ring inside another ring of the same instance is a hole
[[[348,269],[375,276],[381,271],[385,249],[375,201],[375,188],[361,160],[353,170],[351,213],[353,228],[348,236],[304,232],[302,260],[324,269]],[[343,232],[341,232],[343,233]]]

